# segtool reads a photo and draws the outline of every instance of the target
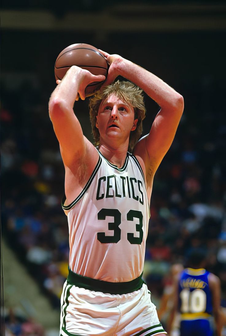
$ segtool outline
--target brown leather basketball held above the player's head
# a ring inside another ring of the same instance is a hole
[[[54,67],[56,80],[62,80],[73,65],[88,70],[93,75],[104,75],[107,78],[109,68],[107,60],[97,48],[90,44],[72,44],[60,52]],[[86,96],[92,95],[103,83],[104,81],[90,83],[85,89]]]

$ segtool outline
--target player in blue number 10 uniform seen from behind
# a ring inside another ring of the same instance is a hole
[[[220,280],[205,267],[206,254],[193,249],[188,257],[189,268],[183,270],[175,283],[174,309],[171,315],[180,313],[180,336],[221,336],[223,326],[220,307]],[[215,320],[215,328],[213,319]]]

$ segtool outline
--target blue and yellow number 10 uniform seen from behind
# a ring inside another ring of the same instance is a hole
[[[179,278],[179,312],[181,336],[213,336],[212,293],[209,272],[204,269],[185,269]]]

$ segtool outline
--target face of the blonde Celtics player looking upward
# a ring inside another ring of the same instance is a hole
[[[127,102],[111,94],[100,104],[96,117],[96,127],[101,140],[127,141],[130,132],[136,129],[138,119],[134,120],[134,109]]]

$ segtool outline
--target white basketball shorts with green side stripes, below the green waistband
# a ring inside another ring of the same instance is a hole
[[[128,294],[104,294],[68,283],[61,296],[61,336],[166,334],[145,284]]]

